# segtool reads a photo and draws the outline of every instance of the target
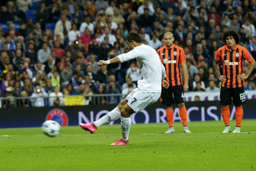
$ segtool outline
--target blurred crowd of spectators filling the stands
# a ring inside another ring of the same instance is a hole
[[[130,32],[156,50],[165,46],[164,33],[172,32],[185,51],[190,91],[219,91],[213,60],[224,45],[223,32],[236,30],[240,45],[256,58],[255,0],[1,0],[0,6],[0,94],[9,99],[4,107],[64,105],[64,98],[46,104],[42,97],[129,94],[142,78],[136,60],[101,67],[97,61],[129,51]],[[255,78],[256,69],[246,89],[255,89]],[[11,97],[33,98],[18,104]]]

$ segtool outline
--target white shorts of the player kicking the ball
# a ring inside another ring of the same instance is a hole
[[[161,93],[152,93],[135,88],[127,97],[128,105],[135,111],[139,112],[145,109],[148,105],[156,102]]]

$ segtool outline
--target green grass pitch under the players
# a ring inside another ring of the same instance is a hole
[[[231,121],[234,129],[236,121]],[[109,146],[121,127],[95,134],[63,127],[50,138],[41,128],[0,129],[0,170],[256,170],[256,120],[243,120],[240,134],[222,134],[223,121],[190,122],[191,134],[164,134],[167,123],[136,124],[128,146]]]

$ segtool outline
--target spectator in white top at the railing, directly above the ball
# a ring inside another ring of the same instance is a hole
[[[32,107],[44,107],[44,97],[48,97],[48,94],[41,90],[39,84],[34,86],[34,93],[30,96],[30,101],[32,102]]]

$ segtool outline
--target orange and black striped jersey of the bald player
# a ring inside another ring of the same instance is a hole
[[[180,74],[180,64],[186,62],[184,49],[173,43],[171,48],[164,46],[158,49],[157,54],[160,56],[162,64],[165,66],[166,81],[169,85],[183,85]]]

